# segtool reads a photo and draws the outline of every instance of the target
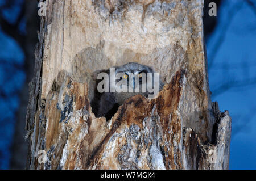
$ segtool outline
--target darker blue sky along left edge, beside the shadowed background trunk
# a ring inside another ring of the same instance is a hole
[[[1,16],[9,23],[15,23],[22,1],[16,0],[10,9],[2,11]],[[3,3],[5,1],[0,1],[0,6]],[[23,28],[19,32],[24,32],[24,21],[19,27]],[[19,91],[26,79],[23,64],[23,50],[0,26],[0,169],[8,169],[10,166],[10,148],[13,142],[15,113],[19,108]]]

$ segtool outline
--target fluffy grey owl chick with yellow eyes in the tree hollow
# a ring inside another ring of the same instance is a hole
[[[107,120],[111,119],[125,99],[137,94],[153,98],[163,89],[158,73],[149,66],[135,62],[115,66],[100,73],[105,74],[105,82],[97,82],[91,105],[97,117],[104,116]],[[100,88],[104,91],[99,91]]]

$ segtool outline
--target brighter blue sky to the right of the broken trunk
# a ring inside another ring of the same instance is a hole
[[[210,90],[229,82],[242,82],[242,86],[213,92],[212,101],[232,116],[230,169],[256,169],[256,86],[250,85],[256,79],[256,14],[240,0],[224,1],[219,11],[218,26],[207,41],[208,62],[214,61],[209,70]]]

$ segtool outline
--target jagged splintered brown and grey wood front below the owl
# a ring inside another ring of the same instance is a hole
[[[46,99],[38,149],[46,150],[37,169],[220,169],[210,160],[210,150],[228,151],[218,142],[229,131],[228,115],[218,123],[216,144],[204,145],[191,128],[183,128],[179,112],[183,71],[155,99],[133,96],[111,120],[94,116],[87,83],[67,77],[59,92]],[[223,117],[224,116],[224,117]],[[213,159],[215,155],[213,155]],[[218,158],[217,158],[218,159]],[[228,161],[221,159],[224,165]]]

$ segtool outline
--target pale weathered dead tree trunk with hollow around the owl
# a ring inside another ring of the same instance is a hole
[[[46,3],[28,169],[228,169],[231,119],[210,100],[203,0]],[[154,67],[163,91],[127,99],[111,120],[94,116],[92,73],[126,62]]]

